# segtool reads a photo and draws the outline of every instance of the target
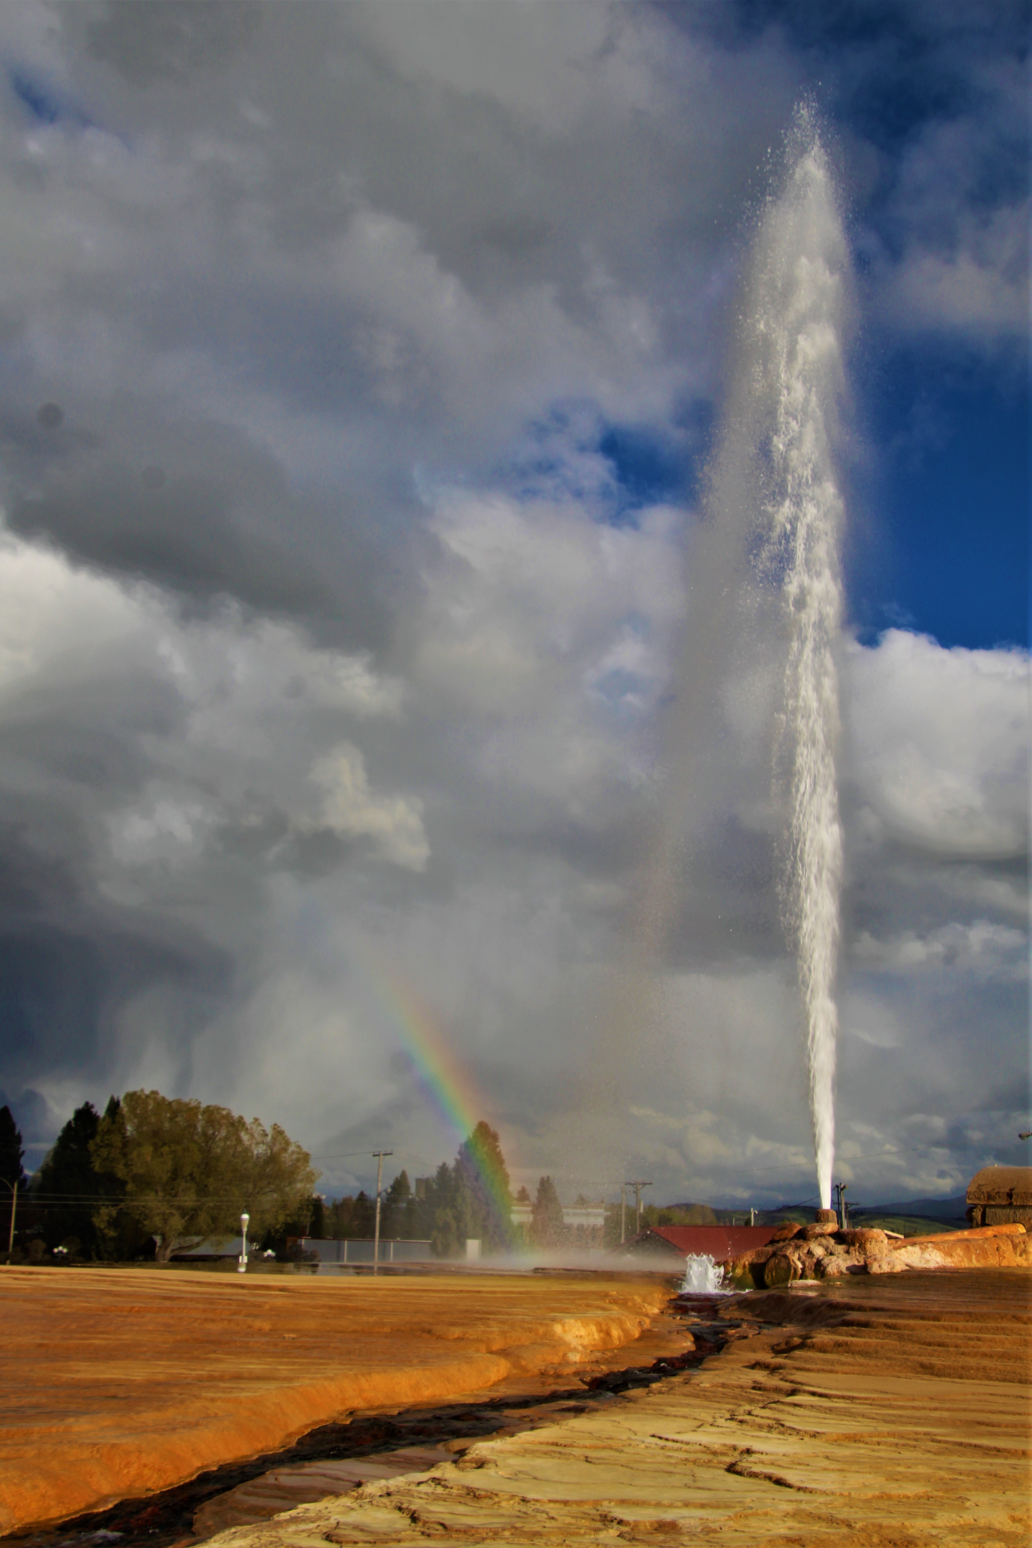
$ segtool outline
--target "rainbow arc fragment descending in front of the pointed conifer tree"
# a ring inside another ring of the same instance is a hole
[[[368,974],[368,980],[381,1009],[401,1034],[419,1088],[458,1139],[475,1192],[487,1203],[500,1235],[507,1235],[512,1209],[509,1180],[492,1155],[477,1142],[480,1118],[475,1115],[483,1115],[484,1102],[469,1071],[458,1063],[439,1025],[410,985],[382,968]]]

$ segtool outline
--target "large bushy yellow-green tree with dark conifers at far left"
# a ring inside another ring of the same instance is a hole
[[[238,1231],[244,1209],[255,1237],[275,1232],[311,1198],[317,1175],[279,1124],[159,1091],[113,1096],[102,1116],[84,1102],[31,1184],[22,1163],[22,1136],[0,1108],[8,1209],[17,1187],[31,1238],[116,1260],[149,1255],[153,1240],[167,1262],[184,1241]],[[9,1223],[8,1214],[8,1234]]]

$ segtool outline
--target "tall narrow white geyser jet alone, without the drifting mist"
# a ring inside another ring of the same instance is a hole
[[[820,1201],[831,1204],[839,1012],[842,827],[836,780],[842,622],[836,477],[837,410],[849,257],[831,167],[800,113],[792,164],[764,215],[753,271],[753,390],[766,421],[763,568],[781,587],[788,624],[780,765],[789,791],[783,918],[798,958]]]

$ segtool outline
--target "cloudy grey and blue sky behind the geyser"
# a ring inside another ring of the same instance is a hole
[[[147,1085],[282,1122],[330,1192],[436,1166],[458,1111],[568,1197],[814,1194],[763,652],[658,853],[808,99],[856,288],[836,1176],[1024,1158],[1026,50],[1021,0],[0,9],[28,1139]]]

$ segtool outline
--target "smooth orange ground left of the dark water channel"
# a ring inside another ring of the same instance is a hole
[[[668,1299],[658,1277],[3,1266],[0,1533],[169,1488],[348,1412],[569,1381]]]

